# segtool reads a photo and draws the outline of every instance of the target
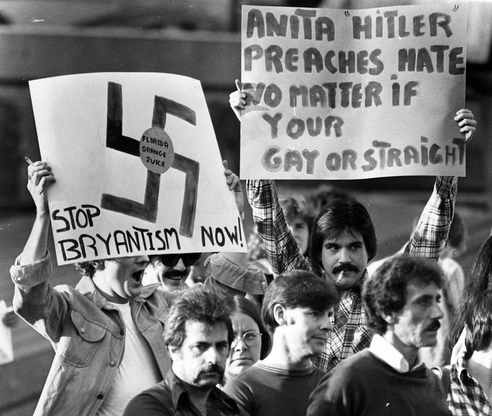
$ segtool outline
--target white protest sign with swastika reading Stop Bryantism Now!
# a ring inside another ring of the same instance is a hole
[[[58,264],[245,251],[199,81],[95,73],[30,81]]]

